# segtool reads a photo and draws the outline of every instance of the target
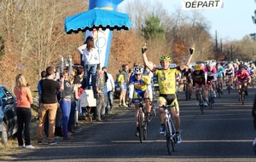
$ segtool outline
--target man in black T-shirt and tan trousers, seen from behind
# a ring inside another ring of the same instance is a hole
[[[46,78],[41,80],[40,86],[42,89],[41,107],[39,109],[38,120],[38,144],[43,144],[44,137],[44,119],[46,111],[49,111],[49,145],[57,144],[55,138],[55,116],[58,107],[56,91],[62,92],[64,90],[64,78],[61,78],[61,84],[54,80],[55,67],[46,68]]]

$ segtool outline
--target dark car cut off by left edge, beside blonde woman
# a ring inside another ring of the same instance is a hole
[[[0,137],[6,144],[9,137],[15,137],[18,131],[17,99],[4,85],[0,85]]]

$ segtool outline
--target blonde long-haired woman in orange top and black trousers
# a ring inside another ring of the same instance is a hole
[[[34,148],[30,140],[30,122],[31,122],[31,104],[32,104],[32,93],[29,88],[26,86],[26,78],[23,74],[16,76],[15,82],[15,95],[17,98],[17,120],[18,120],[18,132],[17,139],[19,148]],[[23,129],[23,126],[25,128]],[[23,142],[23,130],[24,130],[24,139],[25,147]]]

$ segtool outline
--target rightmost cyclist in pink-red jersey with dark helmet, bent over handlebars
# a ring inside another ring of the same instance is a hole
[[[239,70],[236,72],[235,78],[234,80],[238,81],[238,92],[240,95],[240,90],[241,90],[241,84],[243,83],[245,86],[245,95],[248,95],[247,92],[247,83],[251,83],[251,77],[249,72],[247,72],[247,67],[245,67],[244,65],[239,66]]]

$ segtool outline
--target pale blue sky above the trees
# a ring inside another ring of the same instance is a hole
[[[123,8],[125,0],[118,8]],[[168,13],[172,14],[177,9],[182,9],[183,0],[149,0],[152,3],[163,3]],[[245,35],[256,32],[256,24],[253,24],[252,16],[256,9],[256,0],[223,0],[222,9],[200,9],[207,21],[212,26],[210,33],[225,41],[241,40]],[[192,10],[183,10],[184,13]]]

